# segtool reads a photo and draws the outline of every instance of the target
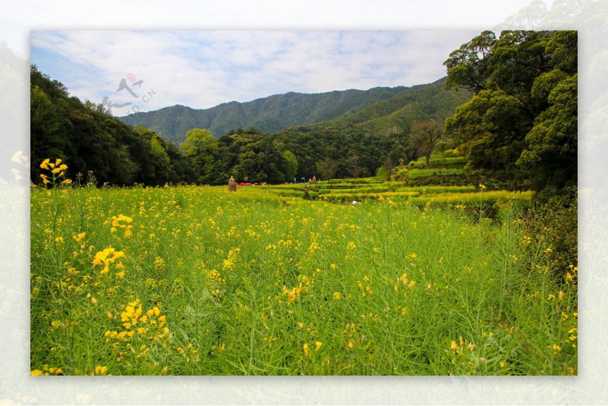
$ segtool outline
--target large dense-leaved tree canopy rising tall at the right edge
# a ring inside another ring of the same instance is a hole
[[[473,168],[505,168],[522,187],[576,184],[577,33],[485,31],[444,62],[449,88],[474,97],[446,120]]]

